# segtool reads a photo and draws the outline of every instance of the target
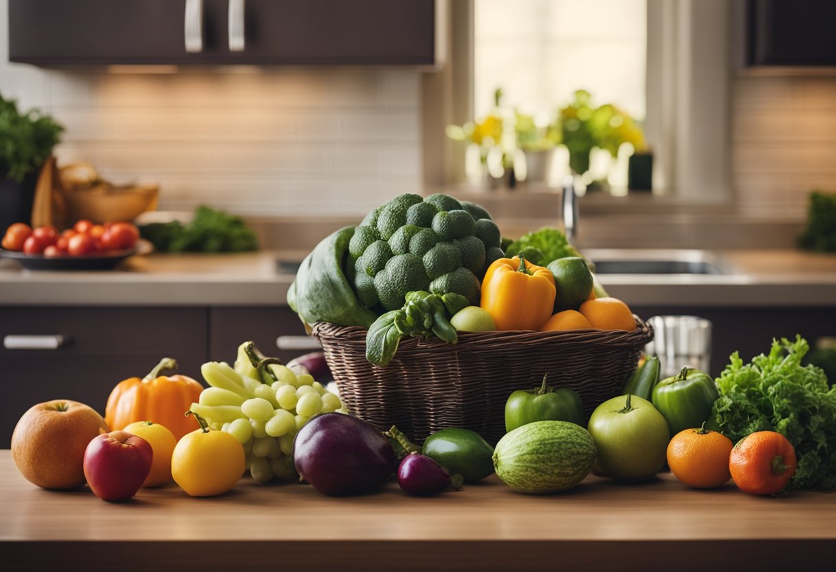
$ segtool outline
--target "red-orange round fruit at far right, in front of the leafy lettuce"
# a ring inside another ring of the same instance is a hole
[[[777,494],[787,487],[796,467],[795,449],[781,433],[758,431],[732,448],[729,470],[744,493]]]

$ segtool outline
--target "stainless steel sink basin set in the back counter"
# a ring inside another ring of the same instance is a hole
[[[599,274],[732,274],[720,256],[705,250],[594,249],[584,256]]]

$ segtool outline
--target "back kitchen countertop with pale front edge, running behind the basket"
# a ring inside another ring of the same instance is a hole
[[[112,271],[43,272],[0,260],[0,304],[283,305],[293,274],[277,259],[303,250],[135,256]],[[600,274],[629,304],[694,306],[836,305],[836,255],[797,250],[718,250],[723,275]]]

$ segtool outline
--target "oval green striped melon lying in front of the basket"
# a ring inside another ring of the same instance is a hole
[[[584,480],[598,450],[592,435],[568,421],[534,421],[499,440],[493,467],[522,493],[558,493]]]

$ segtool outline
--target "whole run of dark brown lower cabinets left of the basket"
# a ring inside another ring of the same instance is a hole
[[[29,349],[56,336],[62,341],[54,349]],[[279,336],[290,336],[297,349],[278,350]],[[15,424],[35,403],[72,399],[104,414],[116,383],[145,375],[164,357],[175,358],[180,373],[201,380],[204,362],[232,363],[244,341],[285,363],[310,351],[314,341],[287,306],[10,306],[0,308],[0,340],[7,389],[0,401],[0,448],[9,447]]]

